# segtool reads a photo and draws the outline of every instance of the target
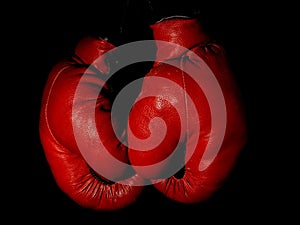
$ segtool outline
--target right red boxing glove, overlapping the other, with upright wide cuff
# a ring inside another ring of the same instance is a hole
[[[129,160],[167,197],[200,202],[220,187],[246,143],[239,90],[224,49],[198,20],[172,17],[151,27],[157,60],[130,112]]]

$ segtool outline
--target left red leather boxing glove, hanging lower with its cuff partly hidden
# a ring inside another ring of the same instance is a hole
[[[141,183],[138,175],[122,178],[126,167],[111,167],[99,149],[101,140],[102,148],[127,165],[127,147],[112,126],[111,89],[102,79],[108,65],[104,58],[94,63],[113,48],[103,39],[83,38],[74,56],[55,65],[49,74],[40,115],[41,142],[58,186],[79,205],[95,210],[123,208],[142,191],[142,186],[130,185]],[[100,157],[87,162],[84,155],[89,154]],[[97,165],[106,171],[105,176],[92,169]],[[114,182],[122,179],[122,183]]]

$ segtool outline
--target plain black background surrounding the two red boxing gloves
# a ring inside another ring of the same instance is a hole
[[[17,108],[14,121],[18,129],[12,129],[12,122],[7,129],[13,137],[9,148],[14,152],[5,170],[8,178],[4,179],[4,186],[12,192],[5,202],[13,212],[9,219],[68,224],[289,221],[294,215],[288,203],[294,200],[290,194],[293,179],[282,170],[289,157],[277,151],[288,148],[280,142],[283,137],[279,127],[283,122],[278,120],[280,108],[287,103],[274,88],[282,81],[275,75],[280,69],[274,70],[280,63],[280,58],[274,57],[280,49],[278,35],[288,34],[278,19],[283,8],[253,1],[185,0],[180,4],[153,1],[154,11],[149,12],[146,2],[26,3],[18,4],[21,12],[12,13],[16,15],[12,16],[15,24],[6,35],[14,46],[9,70],[20,89],[17,103],[10,103]],[[200,12],[208,32],[227,49],[245,103],[249,139],[234,170],[212,198],[199,204],[182,205],[146,187],[139,199],[123,210],[95,212],[78,206],[57,187],[39,140],[41,96],[51,67],[71,54],[86,34],[108,36],[116,45],[151,39],[148,26],[155,20],[195,11]],[[120,24],[125,30],[122,35]],[[18,149],[17,153],[14,149]]]

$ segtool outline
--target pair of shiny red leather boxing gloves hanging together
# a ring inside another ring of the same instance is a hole
[[[246,143],[224,49],[194,18],[165,18],[151,28],[157,60],[120,135],[106,60],[116,46],[85,37],[49,74],[41,143],[58,186],[83,207],[124,208],[148,184],[174,201],[202,202],[222,185]]]

